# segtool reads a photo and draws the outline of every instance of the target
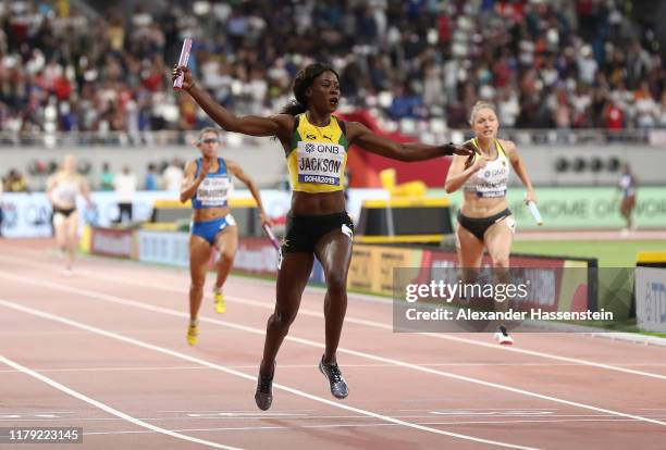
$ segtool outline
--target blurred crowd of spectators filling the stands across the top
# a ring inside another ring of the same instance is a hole
[[[200,128],[205,114],[170,87],[186,36],[196,79],[238,114],[280,111],[294,74],[320,60],[340,72],[344,107],[392,120],[464,128],[483,99],[505,127],[666,127],[665,52],[632,3],[156,0],[96,16],[67,0],[7,1],[0,129]]]

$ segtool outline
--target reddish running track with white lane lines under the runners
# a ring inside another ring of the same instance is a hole
[[[261,412],[273,283],[231,277],[223,315],[207,292],[189,347],[185,271],[86,258],[64,277],[51,246],[0,240],[0,427],[83,427],[83,445],[58,448],[664,448],[666,348],[395,334],[388,301],[350,295],[338,352],[350,393],[338,401],[317,370],[323,295],[312,288]],[[20,446],[33,447],[44,448]]]

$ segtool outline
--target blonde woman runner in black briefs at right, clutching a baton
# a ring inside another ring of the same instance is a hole
[[[465,191],[458,213],[456,243],[460,267],[472,270],[466,277],[481,267],[483,250],[486,249],[495,270],[508,273],[509,254],[516,232],[516,221],[508,209],[506,188],[509,163],[527,188],[525,201],[536,202],[532,182],[516,145],[497,139],[499,122],[492,104],[477,102],[469,123],[474,138],[465,146],[473,148],[472,159],[455,157],[446,177],[446,191],[460,188]],[[495,338],[499,343],[513,343],[506,327],[499,326]]]

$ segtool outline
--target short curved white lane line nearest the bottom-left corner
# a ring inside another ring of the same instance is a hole
[[[205,446],[208,446],[208,447],[213,447],[213,448],[217,448],[217,449],[237,450],[237,447],[223,446],[221,443],[211,442],[210,440],[205,440],[205,439],[199,439],[199,438],[195,438],[195,437],[192,437],[192,436],[186,436],[186,435],[183,435],[183,434],[177,433],[177,432],[172,432],[170,429],[164,429],[164,428],[161,428],[159,426],[155,426],[155,425],[149,424],[147,422],[144,422],[144,421],[141,421],[139,418],[135,418],[135,417],[131,416],[130,414],[125,414],[124,412],[118,411],[116,409],[113,409],[113,408],[109,407],[108,404],[102,403],[99,400],[95,400],[95,399],[92,399],[92,398],[90,398],[88,396],[85,396],[85,395],[83,395],[83,393],[81,393],[81,392],[78,392],[78,391],[76,391],[74,389],[71,389],[71,388],[69,388],[69,387],[66,387],[66,386],[55,382],[54,379],[51,379],[48,376],[45,376],[45,375],[42,375],[42,374],[40,374],[38,372],[35,372],[32,368],[23,366],[23,365],[16,363],[14,361],[8,359],[8,358],[4,358],[1,354],[0,354],[0,362],[4,363],[4,364],[7,364],[7,365],[9,365],[11,367],[16,368],[17,371],[21,371],[24,374],[32,376],[33,378],[37,378],[40,382],[46,383],[47,385],[49,385],[49,386],[51,386],[51,387],[53,387],[53,388],[55,388],[55,389],[58,389],[58,390],[69,395],[69,396],[72,396],[72,397],[74,397],[74,398],[76,398],[78,400],[85,401],[86,403],[89,403],[89,404],[91,404],[91,405],[94,405],[94,407],[96,407],[96,408],[98,408],[98,409],[100,409],[100,410],[102,410],[104,412],[108,412],[109,414],[113,414],[113,415],[115,415],[115,416],[118,416],[118,417],[120,417],[120,418],[122,418],[124,421],[133,423],[134,425],[140,426],[140,427],[144,427],[144,428],[148,428],[148,429],[150,429],[152,432],[161,433],[163,435],[171,436],[171,437],[174,437],[174,438],[177,438],[177,439],[183,439],[183,440],[187,440],[187,441],[195,442],[195,443],[201,443],[201,445],[205,445]]]

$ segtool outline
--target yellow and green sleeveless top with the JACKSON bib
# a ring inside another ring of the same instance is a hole
[[[345,123],[331,116],[329,125],[314,126],[305,114],[295,120],[286,154],[292,188],[309,193],[343,190],[349,148]]]

